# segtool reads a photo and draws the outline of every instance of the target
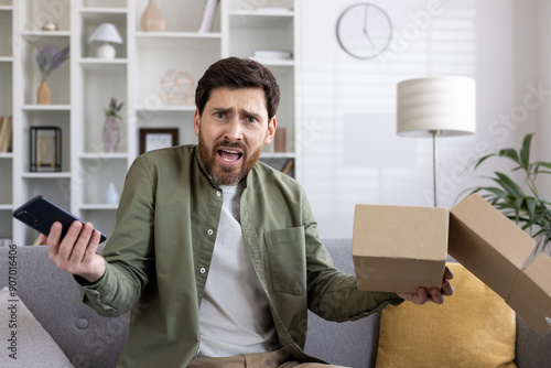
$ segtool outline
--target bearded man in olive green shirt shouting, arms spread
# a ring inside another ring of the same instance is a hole
[[[198,145],[134,161],[102,257],[91,224],[62,240],[52,227],[51,258],[76,275],[84,302],[107,316],[132,311],[119,366],[320,366],[303,351],[307,309],[348,321],[453,293],[449,271],[442,292],[397,295],[358,291],[333,267],[301,186],[258,161],[279,98],[262,65],[213,64],[195,96]]]

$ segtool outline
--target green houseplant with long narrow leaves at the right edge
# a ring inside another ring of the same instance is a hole
[[[510,176],[496,171],[493,176],[486,176],[494,184],[477,187],[474,193],[482,192],[480,195],[486,201],[523,230],[530,231],[537,241],[536,249],[541,247],[545,250],[551,242],[551,203],[540,196],[536,178],[540,174],[551,174],[551,162],[530,162],[532,137],[533,133],[525,136],[519,151],[511,148],[503,149],[480,158],[475,164],[476,170],[490,158],[510,160],[516,164],[512,171],[522,173],[521,185],[518,185]]]

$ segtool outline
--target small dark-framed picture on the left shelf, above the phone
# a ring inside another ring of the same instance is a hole
[[[31,127],[31,172],[62,171],[62,130]]]

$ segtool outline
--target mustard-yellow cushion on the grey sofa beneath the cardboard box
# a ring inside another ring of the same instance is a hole
[[[444,304],[382,311],[377,367],[516,367],[515,312],[458,263]]]

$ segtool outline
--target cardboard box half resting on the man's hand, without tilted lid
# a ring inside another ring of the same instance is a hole
[[[352,251],[358,289],[440,289],[449,217],[444,208],[357,205]]]

